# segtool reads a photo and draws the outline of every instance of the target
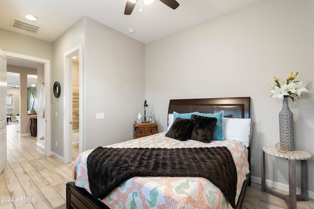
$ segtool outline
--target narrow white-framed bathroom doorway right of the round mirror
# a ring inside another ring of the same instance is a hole
[[[64,53],[64,163],[72,162],[73,145],[83,148],[81,51],[80,44]]]

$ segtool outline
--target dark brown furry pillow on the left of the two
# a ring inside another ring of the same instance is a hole
[[[191,119],[183,119],[177,117],[166,133],[166,137],[185,141],[191,139],[191,133],[193,130],[194,121]]]

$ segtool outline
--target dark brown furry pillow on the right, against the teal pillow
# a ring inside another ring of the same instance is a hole
[[[213,137],[217,118],[192,115],[191,120],[194,120],[191,139],[209,143]]]

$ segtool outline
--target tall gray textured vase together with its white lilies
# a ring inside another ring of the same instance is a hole
[[[281,83],[274,77],[272,84],[268,85],[268,89],[272,93],[271,98],[283,99],[283,108],[279,113],[279,135],[280,142],[286,143],[289,151],[294,150],[294,131],[293,114],[288,106],[288,98],[290,97],[294,102],[294,96],[299,98],[302,92],[308,92],[305,88],[306,84],[303,84],[302,81],[293,81],[297,75],[298,73],[293,75],[290,72],[286,82]]]

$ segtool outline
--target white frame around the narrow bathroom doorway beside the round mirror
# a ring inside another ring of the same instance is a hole
[[[82,44],[64,52],[64,163],[72,162],[72,57],[78,53],[78,152],[83,150]]]

